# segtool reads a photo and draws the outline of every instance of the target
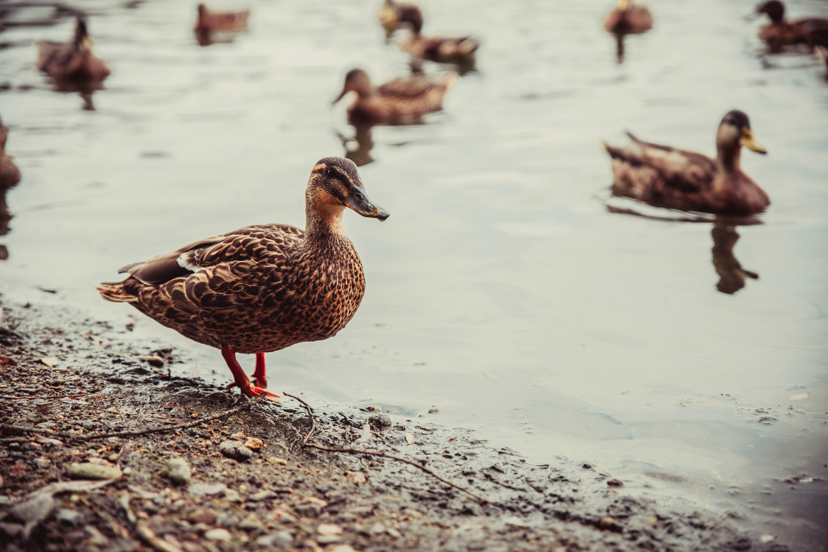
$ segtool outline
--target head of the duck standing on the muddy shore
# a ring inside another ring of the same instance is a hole
[[[342,157],[316,161],[310,171],[306,199],[323,218],[340,214],[345,207],[363,217],[385,220],[389,216],[368,197],[354,161]]]

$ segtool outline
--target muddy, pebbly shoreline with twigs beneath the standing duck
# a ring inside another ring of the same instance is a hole
[[[352,406],[315,410],[310,442],[421,463],[491,503],[479,502],[405,463],[309,449],[299,402],[250,404],[169,377],[185,362],[175,350],[139,350],[81,313],[0,305],[4,552],[792,550],[680,499],[630,497],[587,465],[534,465],[471,431]],[[95,487],[73,464],[119,477]]]

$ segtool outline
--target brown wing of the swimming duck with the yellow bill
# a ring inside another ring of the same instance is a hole
[[[631,166],[648,166],[656,170],[667,187],[683,192],[703,190],[713,180],[715,161],[695,151],[643,142],[628,132],[627,146],[606,146],[609,156]]]

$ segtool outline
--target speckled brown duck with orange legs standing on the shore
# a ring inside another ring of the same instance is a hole
[[[388,218],[368,199],[357,167],[325,157],[310,172],[306,228],[260,224],[190,243],[124,266],[124,281],[103,283],[103,299],[132,304],[157,322],[221,350],[248,396],[267,391],[264,353],[334,336],[356,313],[365,290],[359,255],[344,233],[348,207]],[[236,353],[255,354],[255,386]]]

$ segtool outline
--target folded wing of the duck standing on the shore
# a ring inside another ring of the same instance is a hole
[[[123,266],[119,272],[128,272],[147,286],[161,286],[200,271],[212,272],[219,266],[275,260],[303,237],[299,228],[287,224],[248,226],[192,242],[148,261]]]

